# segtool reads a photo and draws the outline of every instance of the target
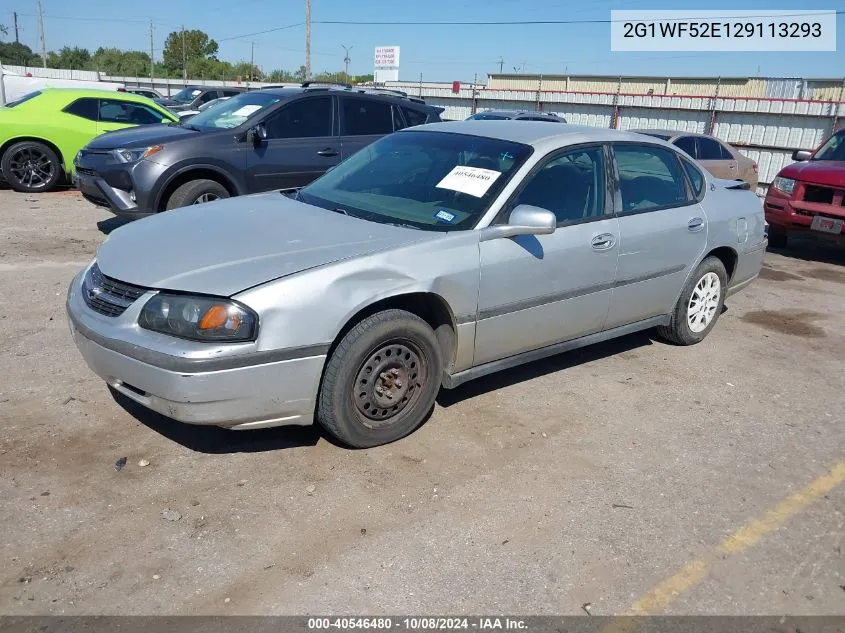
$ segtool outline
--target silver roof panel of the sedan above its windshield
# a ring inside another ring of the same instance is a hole
[[[522,143],[537,148],[574,145],[577,143],[607,142],[607,141],[638,141],[643,137],[632,132],[613,130],[610,128],[596,128],[587,125],[546,125],[543,121],[451,121],[447,123],[427,123],[400,130],[399,134],[415,131],[451,132],[453,134],[468,134]],[[648,142],[654,145],[669,146],[668,143],[657,138],[650,138]]]

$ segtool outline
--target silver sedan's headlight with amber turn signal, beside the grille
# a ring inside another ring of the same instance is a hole
[[[191,341],[242,343],[255,340],[258,316],[229,299],[159,293],[144,305],[138,325]]]

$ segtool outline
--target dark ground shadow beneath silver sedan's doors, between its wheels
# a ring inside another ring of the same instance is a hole
[[[570,367],[607,358],[608,356],[615,356],[646,345],[652,345],[657,340],[659,339],[657,339],[657,334],[654,330],[645,330],[643,332],[620,336],[619,338],[602,343],[595,343],[594,345],[572,350],[571,352],[556,354],[555,356],[536,360],[525,365],[519,365],[512,369],[506,369],[482,378],[476,378],[455,389],[441,389],[440,394],[437,396],[437,404],[441,407],[448,408],[464,400],[469,400],[470,398],[475,398],[491,391],[518,385],[519,383],[563,371]],[[660,342],[662,343],[662,340]]]

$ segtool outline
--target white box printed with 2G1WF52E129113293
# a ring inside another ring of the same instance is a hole
[[[836,11],[611,11],[612,51],[835,51]]]

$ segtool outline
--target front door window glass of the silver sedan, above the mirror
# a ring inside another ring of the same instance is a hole
[[[512,207],[548,209],[560,226],[603,215],[605,191],[604,151],[587,147],[549,160],[531,176]]]

